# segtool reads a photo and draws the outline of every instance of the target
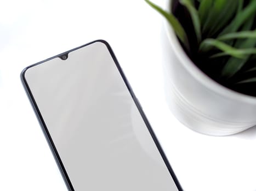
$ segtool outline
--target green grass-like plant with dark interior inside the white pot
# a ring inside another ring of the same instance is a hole
[[[256,96],[255,0],[173,0],[172,13],[145,1],[167,19],[198,68],[221,85]]]

